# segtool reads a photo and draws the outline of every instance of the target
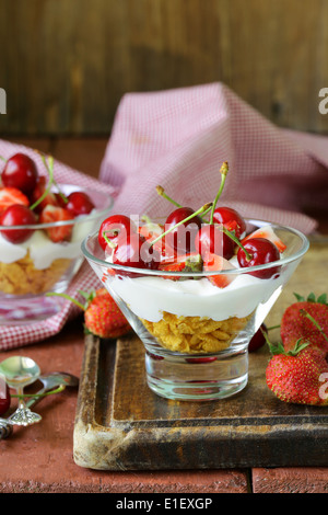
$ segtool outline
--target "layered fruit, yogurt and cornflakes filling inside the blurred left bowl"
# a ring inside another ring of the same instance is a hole
[[[92,230],[96,210],[89,194],[63,192],[54,180],[52,159],[44,158],[47,174],[35,161],[16,153],[8,159],[0,183],[0,293],[44,294],[69,274],[81,255],[81,241]],[[89,216],[91,215],[91,217]]]

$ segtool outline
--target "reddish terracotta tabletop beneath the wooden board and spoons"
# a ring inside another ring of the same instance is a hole
[[[107,140],[47,138],[24,142],[51,153],[78,170],[97,176]],[[82,145],[83,144],[83,145]],[[328,233],[321,214],[320,230]],[[83,352],[82,317],[68,323],[60,334],[44,342],[0,352],[34,358],[43,373],[62,370],[80,376]],[[294,467],[234,470],[96,471],[73,460],[73,427],[78,390],[43,399],[37,411],[42,423],[15,427],[0,442],[1,493],[325,493],[328,467]]]

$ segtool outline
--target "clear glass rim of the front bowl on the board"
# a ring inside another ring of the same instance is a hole
[[[115,264],[115,263],[110,263],[108,261],[105,261],[105,260],[102,260],[99,258],[96,258],[95,255],[93,255],[86,248],[87,245],[87,242],[89,240],[91,240],[92,238],[94,238],[97,232],[93,232],[91,234],[89,234],[86,238],[84,238],[84,240],[82,241],[81,243],[81,249],[82,249],[82,252],[84,254],[84,256],[99,265],[99,266],[107,266],[107,267],[110,267],[115,271],[122,271],[125,272],[125,275],[128,275],[128,274],[138,274],[138,276],[157,276],[157,277],[174,277],[175,275],[177,277],[208,277],[208,276],[213,276],[213,275],[238,275],[238,274],[249,274],[251,272],[257,272],[257,271],[262,271],[262,270],[268,270],[268,268],[273,268],[276,266],[283,266],[283,265],[286,265],[289,263],[292,263],[293,261],[296,261],[298,259],[301,259],[308,250],[309,248],[309,241],[308,241],[308,238],[303,233],[301,232],[298,229],[295,229],[293,227],[290,227],[290,226],[282,226],[280,224],[272,224],[272,222],[269,222],[269,221],[265,221],[265,220],[258,220],[258,219],[251,219],[251,218],[245,218],[245,221],[249,222],[249,224],[257,224],[259,227],[262,227],[263,225],[270,225],[270,227],[272,227],[272,229],[283,229],[283,230],[286,230],[289,232],[292,232],[293,234],[297,236],[301,241],[302,241],[302,247],[301,249],[295,252],[294,254],[292,255],[289,255],[286,258],[282,258],[281,260],[279,261],[272,261],[271,263],[266,263],[266,264],[261,264],[261,265],[257,265],[257,266],[248,266],[248,267],[245,267],[245,268],[229,268],[229,270],[221,270],[221,271],[200,271],[200,272],[177,272],[177,271],[162,271],[162,270],[150,270],[150,268],[138,268],[138,267],[133,267],[133,266],[124,266],[124,265],[118,265],[118,264]]]

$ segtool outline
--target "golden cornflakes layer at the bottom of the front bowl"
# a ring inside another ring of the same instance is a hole
[[[164,311],[159,322],[141,320],[165,348],[181,353],[213,353],[227,348],[250,317],[215,321],[204,317],[177,317]]]

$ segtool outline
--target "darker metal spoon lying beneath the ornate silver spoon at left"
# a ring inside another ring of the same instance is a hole
[[[60,373],[60,371],[54,371],[54,373],[50,373],[50,374],[45,374],[43,376],[39,376],[37,379],[39,381],[42,381],[43,388],[35,393],[35,397],[31,397],[26,401],[26,407],[27,408],[32,408],[38,401],[40,401],[43,399],[43,397],[39,397],[42,393],[45,393],[47,391],[51,391],[55,388],[58,388],[60,386],[63,386],[63,387],[78,387],[78,385],[79,385],[78,377],[73,376],[72,374]],[[8,436],[11,435],[11,433],[13,431],[13,425],[14,425],[12,416],[13,416],[13,414],[10,415],[8,419],[1,419],[0,417],[0,439],[8,438]]]

